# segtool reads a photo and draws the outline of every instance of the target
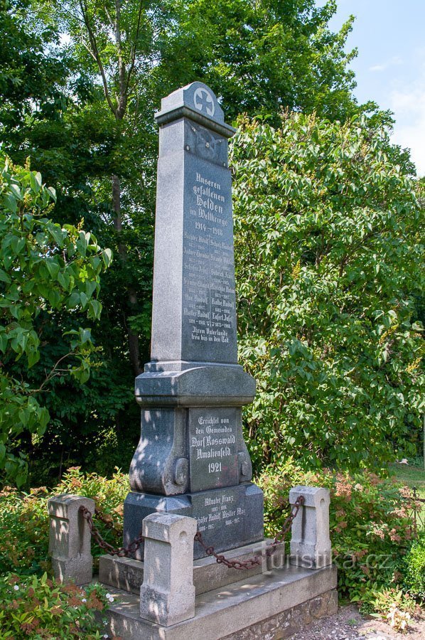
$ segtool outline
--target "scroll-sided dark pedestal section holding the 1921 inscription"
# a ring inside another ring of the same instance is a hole
[[[203,419],[218,420],[218,426],[205,422],[201,427]],[[129,476],[133,491],[165,496],[249,481],[252,465],[240,408],[232,408],[232,402],[228,408],[142,407],[141,437]]]

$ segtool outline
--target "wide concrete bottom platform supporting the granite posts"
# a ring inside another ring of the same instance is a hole
[[[227,587],[199,594],[195,617],[168,627],[142,620],[135,594],[108,587],[116,598],[108,612],[108,631],[123,640],[286,638],[296,631],[288,622],[294,612],[298,611],[300,624],[335,612],[336,583],[335,567],[308,570],[291,566],[244,577]]]

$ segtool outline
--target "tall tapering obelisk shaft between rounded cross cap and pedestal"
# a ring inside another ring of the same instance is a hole
[[[227,140],[187,119],[160,136],[151,357],[237,363]]]

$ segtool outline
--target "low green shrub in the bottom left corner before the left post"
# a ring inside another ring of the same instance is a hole
[[[110,602],[110,600],[109,600]],[[0,578],[1,639],[102,637],[104,625],[95,612],[103,612],[107,598],[99,585],[58,586],[41,577],[6,575]]]

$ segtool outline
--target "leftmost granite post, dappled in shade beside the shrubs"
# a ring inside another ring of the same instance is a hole
[[[78,511],[80,506],[95,513],[95,501],[91,498],[60,494],[48,501],[53,572],[58,582],[71,580],[75,585],[85,585],[93,575],[92,535],[87,521]]]

